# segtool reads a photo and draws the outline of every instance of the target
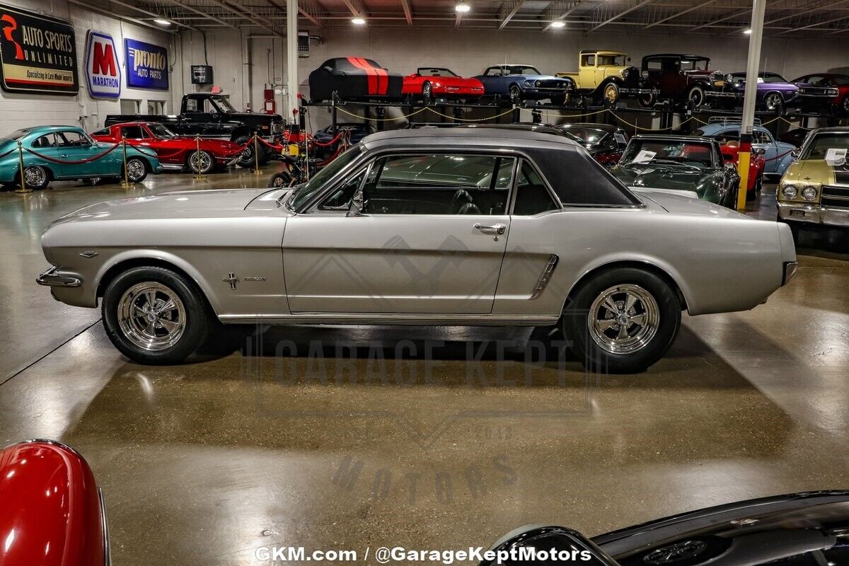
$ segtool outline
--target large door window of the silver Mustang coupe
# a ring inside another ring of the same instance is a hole
[[[515,159],[477,154],[393,155],[374,162],[365,214],[503,215]]]

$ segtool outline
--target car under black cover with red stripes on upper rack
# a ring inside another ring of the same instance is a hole
[[[403,77],[385,70],[372,59],[337,57],[310,73],[310,100],[400,100]]]

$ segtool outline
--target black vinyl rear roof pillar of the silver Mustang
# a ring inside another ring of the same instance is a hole
[[[566,206],[642,205],[583,149],[536,149],[531,155]]]

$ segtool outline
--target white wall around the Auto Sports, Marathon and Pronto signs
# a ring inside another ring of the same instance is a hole
[[[91,132],[103,126],[107,114],[120,114],[121,103],[117,100],[95,99],[88,95],[85,78],[86,32],[103,31],[115,40],[118,59],[121,63],[121,98],[133,98],[142,101],[142,112],[147,112],[147,100],[166,100],[166,110],[173,108],[171,92],[127,88],[124,70],[124,38],[138,39],[168,48],[170,63],[174,62],[174,50],[171,46],[172,35],[141,25],[133,25],[115,20],[70,4],[65,0],[37,2],[37,0],[3,0],[10,6],[25,8],[39,14],[53,16],[74,25],[76,37],[77,71],[80,79],[80,92],[73,97],[48,96],[35,94],[17,94],[0,91],[0,134],[12,132],[25,126],[44,126],[51,124],[75,124]],[[174,77],[171,76],[171,81]]]

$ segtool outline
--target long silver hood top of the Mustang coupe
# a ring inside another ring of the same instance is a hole
[[[180,191],[149,197],[107,200],[84,206],[62,216],[53,224],[68,221],[144,220],[153,218],[202,218],[245,210],[267,188],[237,188],[209,191]]]

